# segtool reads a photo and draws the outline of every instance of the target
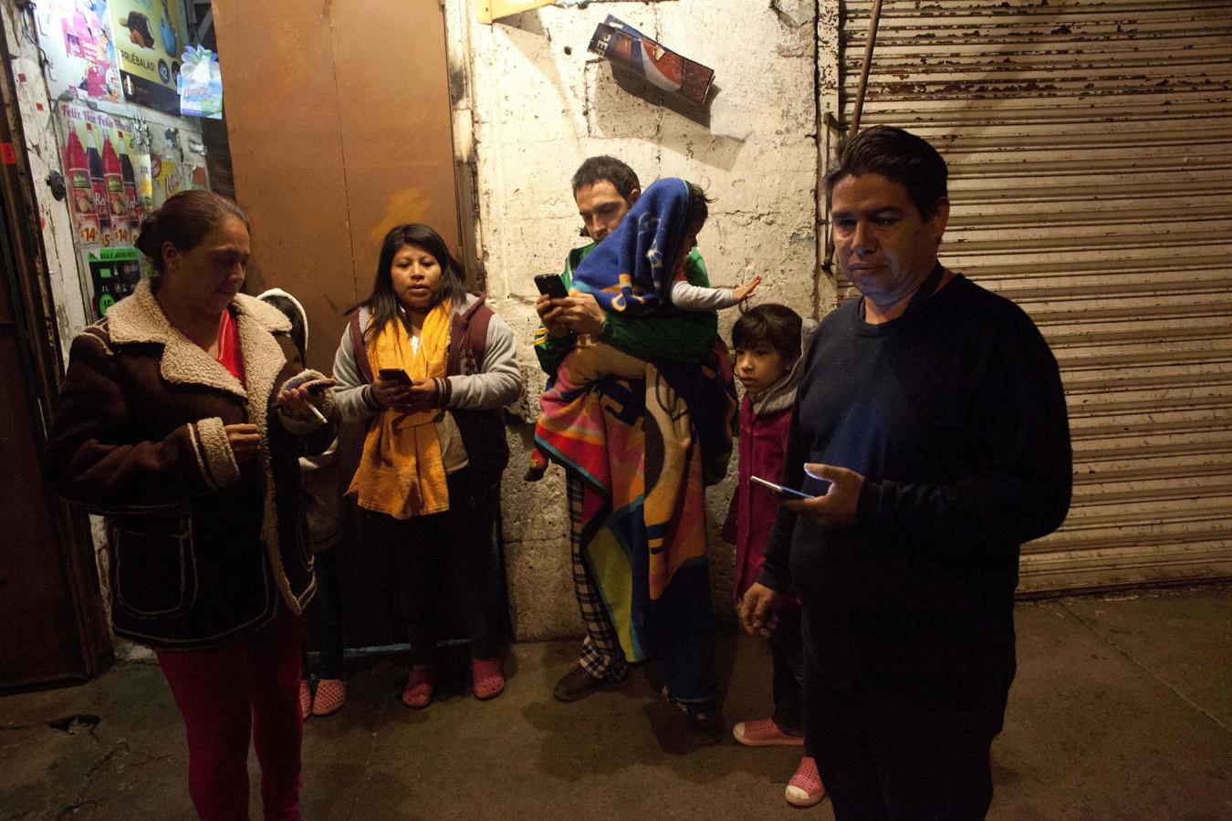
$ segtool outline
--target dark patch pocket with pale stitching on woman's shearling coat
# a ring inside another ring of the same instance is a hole
[[[192,519],[142,517],[107,523],[111,595],[140,618],[182,615],[197,598]]]

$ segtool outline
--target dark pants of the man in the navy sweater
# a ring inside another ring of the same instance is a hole
[[[806,745],[838,821],[966,821],[992,804],[1005,700],[957,711],[859,700],[806,671]]]

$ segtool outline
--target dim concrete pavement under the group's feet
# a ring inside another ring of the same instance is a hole
[[[1232,817],[1230,628],[1232,585],[1020,603],[989,817]],[[352,660],[344,710],[306,726],[304,816],[833,817],[829,801],[784,801],[796,748],[691,747],[644,670],[553,700],[575,650],[515,645],[501,697],[480,703],[458,683],[423,711],[398,699],[397,657]],[[760,641],[724,633],[718,672],[728,724],[769,713]],[[0,761],[4,819],[192,817],[182,727],[149,663],[0,697]],[[260,817],[255,758],[250,771]]]

